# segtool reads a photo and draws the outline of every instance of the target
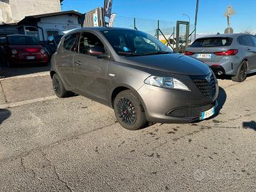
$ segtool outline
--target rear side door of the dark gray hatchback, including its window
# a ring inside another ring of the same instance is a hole
[[[75,75],[73,70],[75,53],[78,51],[78,40],[80,33],[66,36],[63,46],[60,46],[55,63],[58,65],[58,75],[68,87],[75,87]]]

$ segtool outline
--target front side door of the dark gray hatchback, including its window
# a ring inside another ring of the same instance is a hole
[[[80,34],[79,51],[75,54],[74,60],[76,88],[85,95],[107,102],[109,59],[89,55],[87,51],[95,46],[105,49],[104,44],[95,34],[91,32]]]

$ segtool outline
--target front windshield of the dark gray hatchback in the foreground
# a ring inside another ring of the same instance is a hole
[[[118,55],[142,56],[172,53],[170,48],[142,31],[106,30],[102,31],[102,34]]]

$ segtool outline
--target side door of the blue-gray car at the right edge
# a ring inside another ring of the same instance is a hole
[[[250,38],[250,35],[239,36],[238,43],[242,46],[242,50],[244,50],[245,58],[248,60],[249,70],[254,70],[255,53],[252,38]]]

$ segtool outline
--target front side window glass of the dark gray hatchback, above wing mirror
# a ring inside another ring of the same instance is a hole
[[[92,33],[84,32],[81,34],[79,41],[79,53],[87,54],[90,48],[101,47],[104,49],[102,41]]]

